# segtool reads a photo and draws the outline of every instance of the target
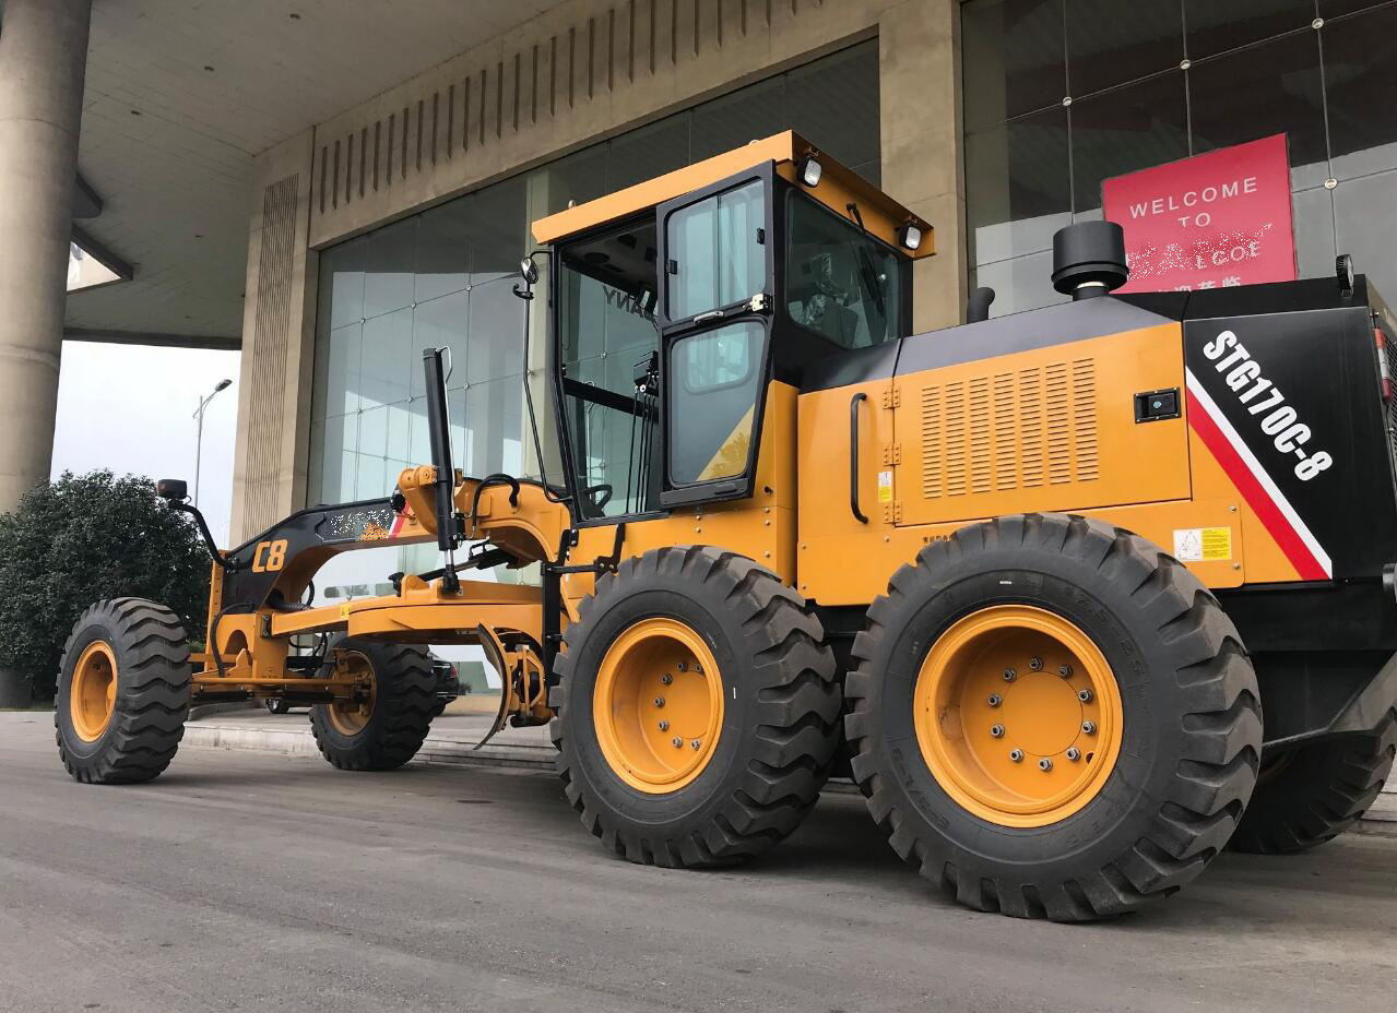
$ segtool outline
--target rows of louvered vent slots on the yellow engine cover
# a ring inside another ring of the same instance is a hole
[[[921,391],[922,498],[1101,477],[1091,359]]]

